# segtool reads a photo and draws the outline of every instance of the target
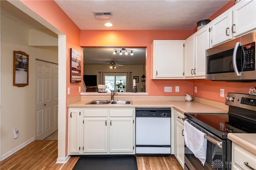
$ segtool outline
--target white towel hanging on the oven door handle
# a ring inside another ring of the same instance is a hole
[[[188,149],[190,149],[196,158],[204,165],[207,149],[207,139],[204,138],[204,133],[188,123],[188,121],[184,121],[184,140]]]

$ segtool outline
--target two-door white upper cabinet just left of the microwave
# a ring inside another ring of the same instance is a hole
[[[185,77],[205,78],[206,49],[210,46],[209,26],[206,25],[185,41]]]

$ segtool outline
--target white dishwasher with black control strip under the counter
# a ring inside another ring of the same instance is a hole
[[[136,108],[136,155],[171,154],[171,109]]]

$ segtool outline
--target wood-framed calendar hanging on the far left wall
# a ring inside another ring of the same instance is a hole
[[[22,51],[13,51],[13,86],[28,85],[28,56]]]

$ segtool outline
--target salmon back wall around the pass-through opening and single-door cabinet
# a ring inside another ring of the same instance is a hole
[[[151,43],[153,40],[185,40],[193,31],[143,30],[143,31],[97,31],[81,30],[82,47],[146,47],[146,92],[150,96],[185,96],[193,93],[191,80],[151,80]],[[172,92],[164,92],[164,86],[172,86]],[[180,86],[180,92],[175,92]]]

